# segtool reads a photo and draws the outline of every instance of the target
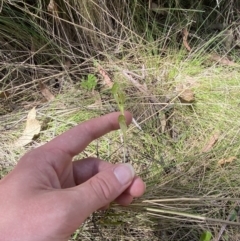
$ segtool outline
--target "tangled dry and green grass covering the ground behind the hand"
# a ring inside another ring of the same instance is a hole
[[[238,50],[200,28],[216,11],[206,17],[196,7],[185,18],[149,2],[3,1],[0,177],[26,151],[117,109],[110,86],[118,82],[137,122],[127,132],[128,161],[147,191],[127,208],[93,214],[72,240],[239,240]],[[16,148],[33,107],[41,131]],[[122,162],[121,133],[79,157],[90,155]]]

